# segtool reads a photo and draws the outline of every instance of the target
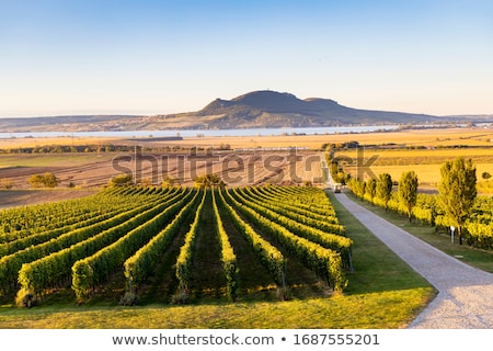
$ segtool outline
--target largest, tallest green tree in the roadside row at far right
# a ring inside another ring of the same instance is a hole
[[[446,161],[440,169],[442,181],[438,184],[439,204],[446,217],[457,227],[459,244],[462,245],[462,226],[470,216],[477,197],[475,166],[472,160],[462,157]]]

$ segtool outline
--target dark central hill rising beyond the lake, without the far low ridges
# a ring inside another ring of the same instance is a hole
[[[290,93],[254,91],[232,100],[216,99],[197,112],[174,117],[208,117],[209,128],[314,127],[354,124],[438,122],[425,114],[357,110],[329,99],[300,100]],[[214,118],[211,118],[214,116]]]

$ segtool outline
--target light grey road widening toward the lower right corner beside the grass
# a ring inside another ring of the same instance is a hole
[[[493,328],[493,274],[443,253],[372,214],[345,194],[336,199],[439,292],[411,329]]]

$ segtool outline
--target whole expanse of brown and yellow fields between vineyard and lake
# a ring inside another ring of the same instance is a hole
[[[365,147],[363,156],[351,150],[342,150],[336,156],[353,162],[358,157],[360,159],[376,157],[375,162],[367,165],[369,169],[367,167],[358,171],[354,165],[353,167],[344,165],[347,167],[346,171],[354,176],[362,173],[360,176],[368,177],[389,172],[393,179],[398,179],[402,171],[413,168],[417,172],[422,188],[434,189],[439,179],[440,165],[455,156],[470,157],[474,160],[480,182],[482,172],[493,174],[491,129],[431,128],[336,135],[197,136],[168,141],[154,141],[152,138],[135,141],[70,137],[2,139],[0,149],[43,145],[96,145],[104,149],[105,145],[134,147],[138,144],[141,152],[137,157],[133,150],[89,154],[3,154],[0,155],[0,181],[9,182],[13,189],[28,189],[30,176],[49,171],[61,180],[61,188],[69,184],[77,188],[100,188],[118,173],[133,172],[137,180],[154,185],[160,184],[163,174],[179,180],[183,185],[192,185],[195,176],[214,172],[220,174],[231,186],[289,184],[303,181],[319,183],[323,181],[318,167],[322,146],[354,140]],[[229,150],[220,150],[225,146],[229,147]],[[288,147],[298,147],[301,150],[294,152],[280,149]],[[197,151],[192,154],[192,148],[196,148]],[[238,149],[250,151],[239,152]],[[363,165],[365,163],[366,161],[363,161]]]

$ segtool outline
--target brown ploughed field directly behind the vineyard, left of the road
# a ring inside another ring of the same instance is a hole
[[[30,189],[33,174],[54,173],[60,188],[101,188],[121,173],[134,180],[160,185],[163,176],[177,184],[190,186],[197,176],[215,173],[230,186],[260,184],[321,183],[321,154],[317,151],[257,152],[133,152],[2,155],[0,180],[12,189]]]

